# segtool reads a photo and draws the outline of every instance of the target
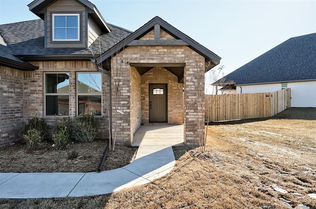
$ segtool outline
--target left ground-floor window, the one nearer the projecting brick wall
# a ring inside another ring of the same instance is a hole
[[[44,115],[69,116],[69,73],[45,73]]]

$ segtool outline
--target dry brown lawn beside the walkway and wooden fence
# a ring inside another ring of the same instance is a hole
[[[173,149],[175,168],[152,183],[102,196],[0,200],[0,209],[316,209],[309,196],[316,193],[316,108],[212,123],[206,152]]]

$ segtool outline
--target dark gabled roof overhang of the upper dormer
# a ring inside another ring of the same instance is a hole
[[[49,6],[50,4],[56,2],[57,0],[34,0],[28,4],[28,7],[31,12],[40,17],[40,19],[44,20],[44,12],[43,9]],[[93,18],[93,20],[98,24],[98,26],[105,32],[111,32],[111,28],[105,22],[102,15],[100,14],[97,7],[88,0],[76,0],[83,6],[88,8],[89,15]]]

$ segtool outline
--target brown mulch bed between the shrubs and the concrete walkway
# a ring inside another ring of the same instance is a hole
[[[100,163],[107,142],[71,143],[67,150],[57,150],[52,142],[40,143],[39,149],[28,151],[23,142],[0,148],[0,173],[93,172]],[[129,164],[137,148],[116,146],[107,156],[102,170]]]

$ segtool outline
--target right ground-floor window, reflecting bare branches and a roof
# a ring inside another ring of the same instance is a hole
[[[77,115],[102,115],[102,74],[77,72]]]

